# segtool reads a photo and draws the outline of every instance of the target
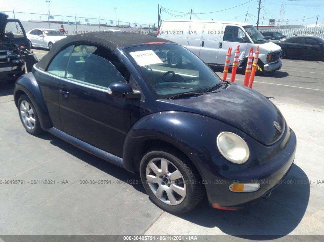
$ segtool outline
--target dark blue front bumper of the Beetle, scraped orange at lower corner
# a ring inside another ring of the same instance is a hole
[[[269,157],[266,162],[255,159],[253,162],[258,165],[254,167],[237,165],[237,167],[241,166],[242,171],[238,169],[230,173],[225,166],[215,167],[220,158],[197,156],[196,158],[203,163],[203,166],[198,169],[202,175],[209,204],[214,208],[237,210],[256,203],[280,185],[289,173],[295,158],[296,136],[289,127],[287,129],[289,130],[284,134],[286,137],[282,137],[271,148],[265,147],[265,149],[273,149],[276,155]],[[227,171],[225,173],[219,169],[227,169]],[[231,177],[224,177],[222,174],[230,174],[228,176]],[[234,183],[256,182],[260,183],[260,188],[255,192],[237,193],[229,190],[229,186]]]

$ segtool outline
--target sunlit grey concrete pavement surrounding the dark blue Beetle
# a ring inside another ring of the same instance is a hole
[[[41,58],[47,51],[34,52]],[[217,210],[204,198],[185,215],[156,207],[139,175],[49,133],[27,134],[13,102],[14,83],[0,84],[0,180],[26,182],[0,184],[0,235],[229,235],[229,241],[324,235],[323,67],[324,62],[283,60],[282,70],[255,78],[253,88],[279,107],[297,136],[295,164],[285,182],[248,209]],[[222,75],[222,68],[215,71]],[[243,79],[238,73],[236,82]]]

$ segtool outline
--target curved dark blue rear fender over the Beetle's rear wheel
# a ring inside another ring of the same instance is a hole
[[[52,122],[48,114],[47,107],[32,72],[22,75],[16,82],[14,100],[17,108],[19,96],[24,93],[27,94],[36,109],[41,127],[45,130],[51,128]]]

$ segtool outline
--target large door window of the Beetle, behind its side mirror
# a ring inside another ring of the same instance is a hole
[[[114,82],[125,82],[109,61],[110,55],[111,52],[101,47],[75,46],[67,66],[66,79],[100,88],[108,88]]]

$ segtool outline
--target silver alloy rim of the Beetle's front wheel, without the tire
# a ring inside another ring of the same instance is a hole
[[[179,169],[164,158],[154,158],[146,166],[146,180],[155,196],[169,205],[186,197],[186,183]]]

